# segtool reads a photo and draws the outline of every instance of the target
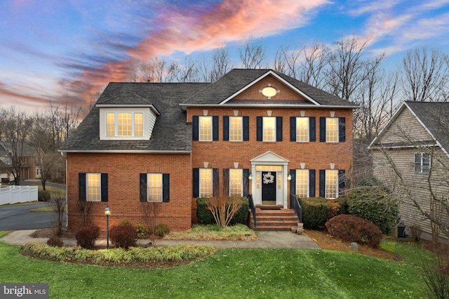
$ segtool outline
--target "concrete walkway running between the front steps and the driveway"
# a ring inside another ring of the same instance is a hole
[[[25,245],[28,242],[46,243],[47,238],[29,237],[34,230],[16,230],[0,238],[1,242],[11,245]],[[215,248],[300,248],[321,249],[307,235],[293,234],[293,232],[256,232],[258,240],[255,241],[197,241],[197,240],[158,240],[156,246],[178,246],[180,244],[210,245]],[[75,239],[62,239],[65,246],[75,246]],[[149,240],[139,240],[140,245],[145,245]],[[106,239],[99,239],[95,246],[106,247]],[[109,241],[109,246],[111,243]]]

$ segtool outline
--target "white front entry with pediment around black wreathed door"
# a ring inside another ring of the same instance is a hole
[[[288,160],[269,151],[250,162],[253,173],[250,189],[255,204],[288,208]]]

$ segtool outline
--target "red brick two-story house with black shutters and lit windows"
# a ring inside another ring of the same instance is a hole
[[[212,84],[110,83],[63,145],[69,230],[77,202],[92,222],[192,225],[196,197],[252,194],[289,208],[289,194],[335,198],[352,166],[356,105],[271,69],[233,69]],[[141,192],[142,191],[142,192]],[[193,199],[193,200],[192,200]]]

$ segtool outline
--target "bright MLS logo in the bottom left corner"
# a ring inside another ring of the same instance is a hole
[[[48,284],[0,284],[0,298],[48,299]]]

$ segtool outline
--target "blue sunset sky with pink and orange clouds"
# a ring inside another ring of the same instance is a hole
[[[449,0],[2,0],[0,107],[88,100],[142,62],[220,46],[241,67],[249,36],[272,60],[279,46],[351,35],[391,66],[421,46],[449,54]]]

